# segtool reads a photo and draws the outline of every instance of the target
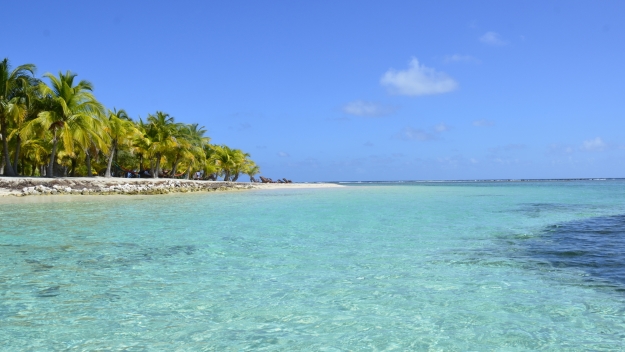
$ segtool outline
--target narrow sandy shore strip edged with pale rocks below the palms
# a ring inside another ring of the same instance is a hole
[[[247,189],[345,187],[335,183],[250,183],[168,178],[0,177],[0,197],[43,195],[153,195]]]

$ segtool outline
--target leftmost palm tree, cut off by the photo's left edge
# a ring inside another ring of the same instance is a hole
[[[8,118],[19,116],[21,112],[20,97],[32,76],[35,73],[35,65],[25,64],[11,71],[9,59],[0,61],[0,137],[2,138],[2,150],[5,164],[5,175],[17,176],[9,159],[9,132]]]

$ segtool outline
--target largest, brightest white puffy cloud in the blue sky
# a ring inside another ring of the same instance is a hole
[[[380,84],[386,86],[392,94],[410,96],[442,94],[458,88],[458,83],[446,73],[419,65],[416,58],[412,58],[409,66],[404,71],[386,71],[380,78]]]

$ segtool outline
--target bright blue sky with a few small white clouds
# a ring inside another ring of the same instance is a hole
[[[0,56],[265,177],[625,177],[623,1],[13,1]]]

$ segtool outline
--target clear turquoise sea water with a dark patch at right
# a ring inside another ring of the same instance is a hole
[[[0,350],[625,349],[622,181],[69,199],[0,204]]]

